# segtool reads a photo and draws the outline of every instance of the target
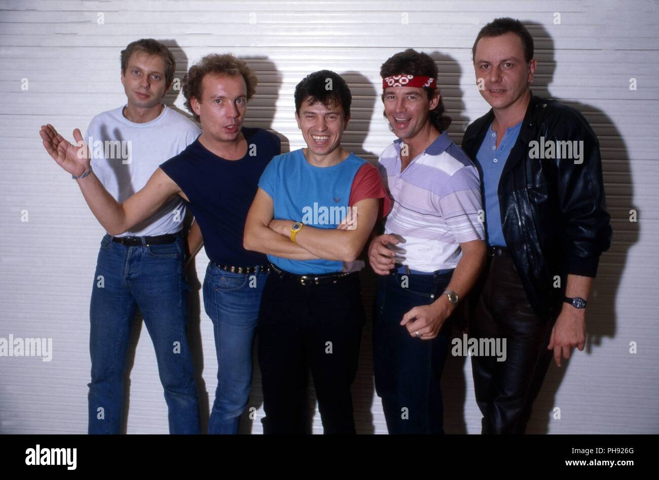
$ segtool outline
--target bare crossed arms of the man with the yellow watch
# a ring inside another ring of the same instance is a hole
[[[247,215],[243,246],[247,250],[268,253],[293,260],[326,259],[355,261],[368,240],[378,216],[378,199],[366,198],[353,206],[358,221],[342,223],[337,228],[305,225],[291,242],[289,234],[296,220],[273,220],[274,203],[262,188]]]

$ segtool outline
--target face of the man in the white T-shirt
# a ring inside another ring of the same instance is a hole
[[[129,107],[150,109],[160,105],[169,90],[169,85],[165,85],[165,61],[159,55],[143,51],[132,53],[126,70],[121,72],[121,84]]]

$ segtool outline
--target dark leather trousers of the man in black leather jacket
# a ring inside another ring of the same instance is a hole
[[[471,359],[482,433],[523,434],[553,357],[547,346],[556,319],[543,321],[534,313],[513,259],[505,253],[488,257],[476,292],[470,336],[506,338],[505,361]]]

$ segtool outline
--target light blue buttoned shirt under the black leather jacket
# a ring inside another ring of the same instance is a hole
[[[496,147],[496,132],[492,125],[485,134],[483,143],[476,153],[476,160],[483,172],[483,190],[485,191],[485,225],[488,229],[488,244],[505,247],[505,238],[501,230],[501,207],[499,205],[499,180],[503,172],[503,165],[510,155],[511,149],[517,142],[522,122],[506,128],[503,138]]]

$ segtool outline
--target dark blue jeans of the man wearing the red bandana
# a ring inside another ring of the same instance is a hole
[[[400,325],[413,307],[440,298],[453,271],[435,275],[393,273],[378,278],[373,324],[376,392],[389,433],[444,433],[440,379],[451,336],[449,321],[432,340],[421,340]]]

